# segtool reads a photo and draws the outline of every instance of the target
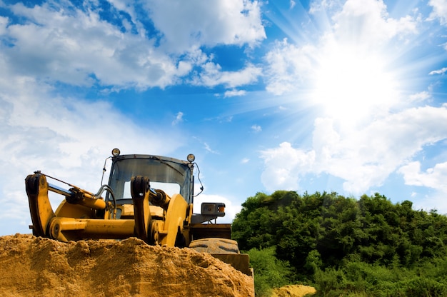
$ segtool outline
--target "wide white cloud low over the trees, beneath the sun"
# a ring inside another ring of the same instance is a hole
[[[324,172],[343,178],[345,191],[364,193],[381,186],[423,146],[447,139],[447,127],[440,124],[445,122],[447,109],[431,106],[389,114],[361,129],[338,126],[332,119],[317,119],[313,148],[303,150],[283,143],[261,152],[266,166],[263,185],[268,189],[296,189],[300,176]],[[436,167],[436,172],[441,172],[441,167]]]

